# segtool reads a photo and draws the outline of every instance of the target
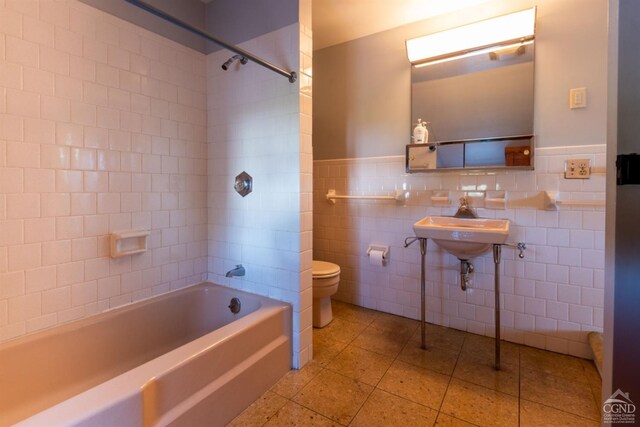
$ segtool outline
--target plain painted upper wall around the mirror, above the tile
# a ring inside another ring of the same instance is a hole
[[[322,89],[314,101],[314,158],[402,154],[411,134],[405,40],[535,5],[537,145],[602,143],[607,3],[501,0],[316,51],[315,82]],[[569,89],[583,86],[589,108],[570,111],[566,108]]]

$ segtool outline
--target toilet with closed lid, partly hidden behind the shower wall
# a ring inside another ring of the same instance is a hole
[[[331,262],[313,261],[313,326],[325,327],[333,319],[331,295],[338,291],[340,266]]]

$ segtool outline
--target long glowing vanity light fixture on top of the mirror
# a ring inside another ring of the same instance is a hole
[[[533,43],[536,8],[407,40],[407,57],[423,67]]]

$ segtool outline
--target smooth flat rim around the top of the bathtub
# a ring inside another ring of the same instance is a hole
[[[273,315],[282,314],[288,310],[292,312],[293,310],[291,304],[284,301],[205,281],[157,295],[152,298],[136,301],[134,303],[127,304],[126,306],[118,307],[92,317],[116,315],[119,311],[133,309],[133,306],[136,304],[145,304],[149,303],[149,301],[160,298],[170,298],[176,293],[188,292],[197,287],[215,287],[220,288],[223,292],[232,293],[233,296],[244,295],[251,298],[258,298],[260,306],[255,311],[248,313],[245,316],[222,326],[221,328],[211,331],[193,341],[169,351],[168,353],[164,353],[155,359],[123,372],[116,377],[91,387],[52,407],[35,413],[28,418],[18,421],[14,425],[18,427],[75,425],[82,423],[82,421],[89,420],[92,417],[98,416],[102,412],[105,412],[105,410],[127,404],[135,404],[140,407],[140,411],[138,413],[140,420],[142,420],[141,391],[148,381],[165,372],[176,369],[180,365],[188,363],[189,360],[198,357],[198,355],[209,351],[211,348],[232,339],[233,336],[241,333],[247,326],[253,323],[260,322]],[[68,327],[74,323],[86,321],[87,319],[90,318],[61,325],[61,327]],[[99,321],[99,319],[92,320]],[[291,320],[292,319],[289,319],[289,333],[291,332]],[[32,334],[29,338],[35,335],[36,334]],[[100,405],[96,407],[97,402],[100,402]]]

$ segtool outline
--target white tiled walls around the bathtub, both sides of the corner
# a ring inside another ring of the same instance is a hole
[[[0,0],[0,340],[208,276],[291,302],[311,359],[310,28],[305,0],[300,25],[243,44],[291,84],[74,0]],[[150,250],[111,259],[131,228]]]

